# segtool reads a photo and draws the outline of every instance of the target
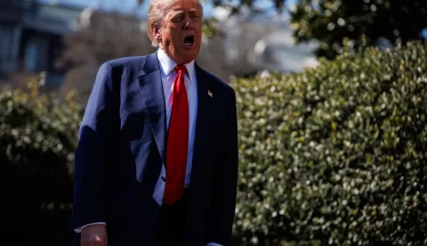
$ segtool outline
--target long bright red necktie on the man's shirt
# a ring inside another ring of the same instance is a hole
[[[189,148],[189,101],[185,89],[184,65],[177,65],[173,83],[173,103],[166,149],[166,186],[164,201],[172,205],[183,192]]]

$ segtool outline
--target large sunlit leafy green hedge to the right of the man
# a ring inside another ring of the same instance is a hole
[[[427,47],[238,79],[238,245],[427,245]]]

